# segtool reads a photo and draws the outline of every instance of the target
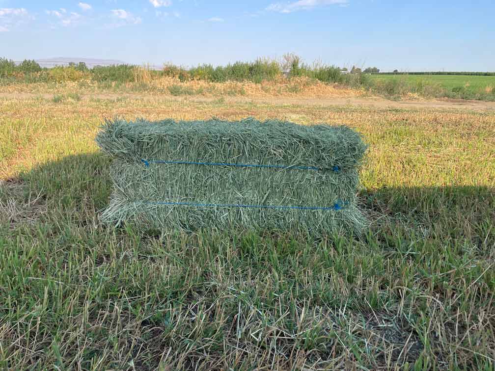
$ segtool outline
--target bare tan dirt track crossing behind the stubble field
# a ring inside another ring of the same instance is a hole
[[[52,98],[53,94],[33,94],[33,93],[0,93],[0,98],[7,99],[32,99],[42,97],[45,99]],[[97,93],[91,95],[82,95],[81,99],[147,99],[147,98],[167,98],[169,100],[180,101],[186,99],[183,96],[156,95],[149,93]],[[218,97],[194,96],[187,97],[192,102],[215,102]],[[290,104],[290,105],[318,105],[318,106],[362,106],[369,108],[431,108],[431,109],[467,109],[473,111],[495,111],[495,102],[466,100],[466,99],[402,99],[390,100],[378,96],[365,97],[249,97],[249,96],[232,96],[224,97],[225,103],[267,103],[267,104]]]

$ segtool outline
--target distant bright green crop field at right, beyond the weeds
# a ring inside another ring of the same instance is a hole
[[[411,84],[438,85],[452,97],[476,98],[495,91],[495,76],[472,75],[370,75],[372,82],[404,81]],[[446,94],[448,96],[448,94]]]

